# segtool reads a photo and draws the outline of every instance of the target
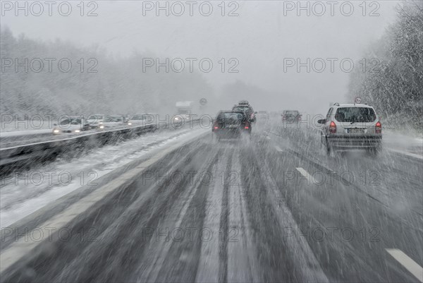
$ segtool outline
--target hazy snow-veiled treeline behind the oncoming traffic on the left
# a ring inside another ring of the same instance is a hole
[[[176,101],[213,95],[201,73],[143,70],[142,59],[154,54],[116,59],[99,47],[15,37],[8,28],[0,37],[1,114],[172,113]]]

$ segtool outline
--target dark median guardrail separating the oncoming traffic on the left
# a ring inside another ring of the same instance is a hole
[[[199,120],[192,120],[192,124]],[[129,128],[118,128],[109,131],[95,133],[82,133],[78,136],[63,138],[61,140],[49,140],[28,145],[18,145],[0,149],[0,173],[10,174],[16,169],[25,169],[34,164],[54,160],[59,155],[75,156],[85,150],[102,147],[110,143],[116,143],[128,138],[134,138],[144,133],[156,131],[158,128],[166,128],[169,125],[147,124]]]

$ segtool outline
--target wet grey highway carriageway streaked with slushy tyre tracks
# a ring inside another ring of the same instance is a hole
[[[4,228],[1,282],[422,282],[422,171],[307,129],[202,130]]]

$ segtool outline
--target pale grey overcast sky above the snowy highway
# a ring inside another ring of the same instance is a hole
[[[257,97],[260,107],[316,113],[326,112],[329,102],[344,102],[348,61],[362,59],[364,51],[383,35],[395,20],[398,1],[367,1],[364,5],[363,1],[226,1],[224,5],[209,1],[201,8],[201,1],[161,1],[161,6],[168,5],[168,16],[166,8],[157,11],[157,1],[86,1],[84,16],[80,16],[80,1],[68,2],[72,7],[69,16],[62,16],[68,13],[68,4],[62,4],[59,13],[60,2],[56,2],[49,16],[49,6],[40,3],[41,16],[34,15],[39,6],[31,7],[31,2],[26,4],[25,16],[25,10],[16,11],[15,1],[2,1],[1,25],[8,25],[14,35],[24,33],[33,39],[60,38],[84,47],[99,44],[117,58],[135,51],[154,52],[171,60],[196,58],[193,71],[203,73],[216,91],[225,83],[243,80],[280,93],[274,101],[259,102]],[[299,4],[305,8],[299,10]],[[182,6],[185,12],[176,16]],[[90,11],[97,16],[87,16]],[[213,63],[209,73],[198,66],[204,58]],[[222,58],[226,59],[223,72]],[[296,64],[297,59],[306,63],[307,58],[309,73],[306,66],[298,72],[297,66],[287,65]],[[333,72],[328,58],[337,60]],[[343,59],[345,71],[340,66]],[[321,61],[326,68],[318,73]],[[188,64],[185,61],[185,68]],[[231,66],[238,73],[228,73]]]

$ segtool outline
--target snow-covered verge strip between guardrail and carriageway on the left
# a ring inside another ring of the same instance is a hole
[[[1,227],[13,224],[81,186],[94,185],[99,177],[134,159],[177,141],[190,140],[206,131],[188,128],[147,133],[140,138],[100,147],[71,161],[59,158],[44,167],[1,179]]]

